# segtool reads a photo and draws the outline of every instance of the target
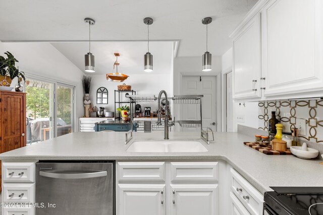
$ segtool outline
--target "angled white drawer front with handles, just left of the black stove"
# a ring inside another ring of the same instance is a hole
[[[231,176],[231,191],[238,197],[251,214],[262,215],[263,195],[232,168]]]

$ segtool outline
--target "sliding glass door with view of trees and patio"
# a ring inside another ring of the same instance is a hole
[[[27,145],[73,132],[74,86],[26,79]]]

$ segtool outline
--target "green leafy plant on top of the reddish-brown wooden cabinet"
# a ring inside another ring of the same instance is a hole
[[[19,62],[12,53],[9,51],[5,52],[7,58],[0,56],[0,76],[9,76],[11,79],[18,77],[18,84],[24,80],[26,82],[25,73],[19,71],[15,66],[16,62]]]

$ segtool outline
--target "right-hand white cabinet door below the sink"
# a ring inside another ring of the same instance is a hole
[[[217,215],[218,185],[171,185],[171,215]]]

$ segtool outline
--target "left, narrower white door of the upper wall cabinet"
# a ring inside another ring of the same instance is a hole
[[[233,38],[233,98],[260,98],[260,13]]]

